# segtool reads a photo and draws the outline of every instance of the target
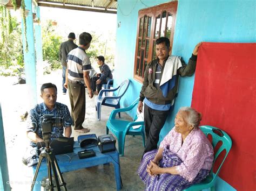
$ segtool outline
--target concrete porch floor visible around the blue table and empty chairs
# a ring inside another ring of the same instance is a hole
[[[68,97],[68,96],[67,96]],[[97,136],[106,134],[106,121],[112,111],[110,107],[102,107],[102,119],[96,118],[94,98],[86,97],[86,119],[84,127],[90,128]],[[130,119],[127,114],[122,118]],[[77,132],[73,136],[77,138]],[[118,147],[118,144],[116,144]],[[122,190],[143,190],[144,184],[137,175],[137,168],[142,157],[144,147],[141,136],[126,136],[124,157],[120,157],[120,168],[123,182]],[[79,171],[63,173],[68,190],[116,190],[113,165],[100,165]]]

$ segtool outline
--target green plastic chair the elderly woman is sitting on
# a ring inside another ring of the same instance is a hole
[[[192,185],[191,187],[184,189],[184,191],[188,190],[202,190],[206,188],[211,188],[211,191],[214,191],[214,184],[217,179],[217,176],[220,172],[220,168],[223,165],[223,162],[225,161],[228,152],[230,152],[230,148],[232,146],[232,140],[230,136],[227,135],[227,133],[223,130],[220,130],[218,128],[214,128],[213,126],[208,126],[208,125],[203,125],[200,126],[200,129],[205,133],[206,136],[209,134],[212,136],[212,146],[215,148],[215,146],[219,143],[222,142],[222,145],[219,147],[218,151],[214,154],[214,160],[213,160],[213,165],[218,158],[219,154],[223,151],[226,150],[225,157],[221,161],[221,164],[217,170],[217,172],[214,174],[213,173],[213,168],[211,169],[210,174],[206,177],[205,180],[202,182]]]

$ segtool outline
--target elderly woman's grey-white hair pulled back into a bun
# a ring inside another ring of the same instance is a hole
[[[186,112],[187,115],[184,116],[185,121],[192,125],[194,129],[198,128],[202,115],[197,110],[191,107],[181,107],[179,111]]]

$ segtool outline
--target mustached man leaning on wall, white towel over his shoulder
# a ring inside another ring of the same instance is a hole
[[[178,88],[178,75],[191,76],[196,70],[198,48],[186,65],[179,56],[169,56],[170,40],[160,37],[156,40],[157,59],[145,69],[142,90],[139,95],[138,110],[142,112],[144,101],[144,125],[147,143],[144,153],[157,148],[159,134],[163,128]],[[144,154],[143,153],[143,154]]]

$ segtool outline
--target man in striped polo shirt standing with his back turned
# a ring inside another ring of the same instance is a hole
[[[68,54],[68,67],[64,84],[64,87],[69,89],[71,117],[75,123],[74,130],[84,133],[90,131],[90,129],[82,126],[85,118],[85,85],[89,97],[93,97],[89,76],[91,62],[85,52],[90,47],[91,40],[92,36],[87,32],[79,35],[79,46]]]

